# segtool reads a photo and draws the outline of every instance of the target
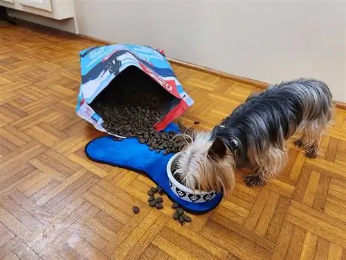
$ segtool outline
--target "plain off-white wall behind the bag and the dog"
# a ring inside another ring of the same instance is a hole
[[[346,102],[346,2],[75,0],[80,34],[279,83],[313,77]]]

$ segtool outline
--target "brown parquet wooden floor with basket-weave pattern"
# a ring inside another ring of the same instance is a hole
[[[346,259],[346,112],[307,159],[291,146],[282,175],[233,195],[181,227],[152,182],[95,164],[85,144],[100,135],[75,115],[78,51],[95,42],[0,26],[0,259]],[[174,65],[195,104],[183,116],[211,128],[257,91]],[[140,214],[133,214],[138,205]]]

